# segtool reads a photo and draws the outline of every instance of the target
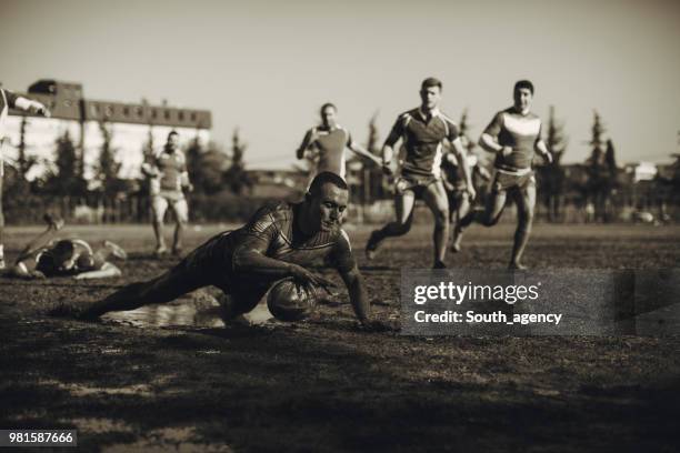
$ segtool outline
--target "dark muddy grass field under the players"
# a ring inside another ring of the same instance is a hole
[[[38,231],[10,228],[7,258]],[[217,231],[190,231],[188,248]],[[430,229],[387,243],[370,264],[368,229],[349,232],[374,313],[399,325],[401,268],[431,264]],[[151,258],[150,226],[62,235],[113,240],[131,256],[118,279],[0,279],[0,429],[77,429],[82,451],[680,449],[680,335],[368,333],[344,294],[297,324],[213,325],[200,313],[208,292],[146,319],[53,319],[46,312],[57,304],[96,300],[174,262]],[[502,269],[511,236],[510,225],[470,229],[449,265]],[[526,262],[640,269],[679,259],[677,226],[537,225]]]

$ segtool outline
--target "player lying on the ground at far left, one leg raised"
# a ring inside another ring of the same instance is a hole
[[[81,239],[53,240],[63,226],[63,220],[46,215],[46,231],[31,240],[19,253],[14,265],[6,272],[7,276],[23,279],[44,279],[48,276],[73,276],[74,279],[107,279],[121,274],[120,269],[108,262],[109,256],[127,259],[127,253],[113,242],[104,241],[93,251]]]

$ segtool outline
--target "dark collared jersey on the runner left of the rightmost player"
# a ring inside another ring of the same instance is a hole
[[[384,143],[393,147],[400,138],[406,148],[402,173],[439,177],[442,142],[456,140],[458,127],[438,110],[428,121],[420,109],[413,109],[399,115]]]

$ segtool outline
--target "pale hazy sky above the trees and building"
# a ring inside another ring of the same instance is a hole
[[[536,85],[553,104],[567,162],[589,154],[597,109],[619,162],[679,151],[679,1],[34,1],[0,0],[0,81],[81,82],[86,97],[209,109],[213,139],[239,127],[250,168],[286,168],[327,101],[366,142],[443,81],[442,110],[469,109],[474,140]]]

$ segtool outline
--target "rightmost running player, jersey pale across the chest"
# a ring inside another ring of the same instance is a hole
[[[482,148],[496,153],[496,178],[486,208],[471,211],[461,219],[454,230],[454,242],[459,242],[466,226],[474,221],[484,226],[494,225],[510,194],[517,203],[518,223],[509,269],[526,269],[521,259],[529,241],[536,205],[536,179],[531,161],[534,152],[548,162],[552,162],[552,155],[541,140],[541,119],[530,110],[533,84],[529,80],[518,81],[513,98],[514,104],[498,112],[479,139]]]

